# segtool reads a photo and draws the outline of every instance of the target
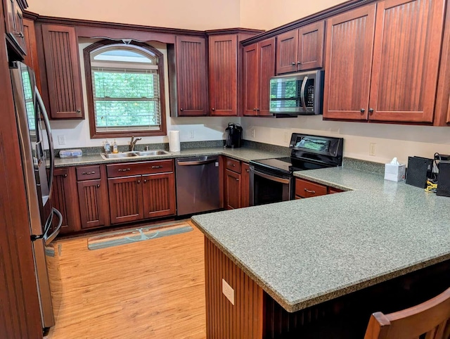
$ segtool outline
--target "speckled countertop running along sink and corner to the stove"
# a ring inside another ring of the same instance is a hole
[[[285,155],[257,150],[255,148],[195,148],[188,149],[180,152],[172,152],[167,155],[157,155],[151,157],[136,157],[136,158],[118,158],[104,160],[100,154],[96,155],[83,155],[80,158],[56,158],[55,167],[68,167],[68,166],[82,166],[82,165],[98,165],[114,162],[136,162],[136,161],[149,161],[160,160],[170,158],[184,158],[195,157],[202,155],[226,155],[231,158],[248,162],[250,160],[267,159],[267,158],[279,158]]]

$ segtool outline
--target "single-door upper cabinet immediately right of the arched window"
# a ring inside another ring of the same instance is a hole
[[[206,39],[177,36],[168,45],[170,114],[175,117],[207,115]]]

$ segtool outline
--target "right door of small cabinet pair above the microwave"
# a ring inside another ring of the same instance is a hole
[[[324,21],[300,27],[298,30],[297,70],[323,67],[324,30]]]

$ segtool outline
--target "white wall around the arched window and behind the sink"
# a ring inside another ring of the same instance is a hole
[[[80,67],[84,70],[83,49],[96,40],[80,39]],[[164,54],[165,58],[165,79],[167,77],[167,48],[165,44],[153,43],[153,47]],[[85,120],[54,120],[51,121],[53,143],[56,149],[75,148],[75,147],[94,147],[101,146],[105,139],[91,139],[89,132],[89,111],[86,99],[86,77],[82,72],[83,97],[84,97],[84,115]],[[238,117],[170,117],[169,114],[169,84],[165,81],[165,101],[166,101],[166,122],[167,131],[179,130],[180,141],[207,141],[224,139],[225,128],[228,122],[239,122]],[[192,135],[193,133],[193,135]],[[65,136],[65,145],[58,143],[58,136]],[[131,136],[131,134],[130,134]],[[193,137],[192,137],[193,136]],[[118,145],[129,144],[130,138],[116,138]],[[109,140],[112,142],[113,140]],[[143,136],[139,143],[164,143],[169,142],[167,136]]]

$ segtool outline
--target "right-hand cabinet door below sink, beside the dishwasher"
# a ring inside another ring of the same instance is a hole
[[[175,215],[174,173],[143,175],[142,181],[144,218]]]

